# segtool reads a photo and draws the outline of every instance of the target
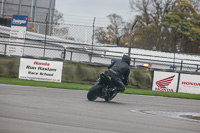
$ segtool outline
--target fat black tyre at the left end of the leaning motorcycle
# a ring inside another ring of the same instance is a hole
[[[99,82],[96,82],[88,91],[87,93],[87,99],[89,101],[94,101],[98,98],[98,94],[100,93],[100,90],[102,88],[102,85]]]

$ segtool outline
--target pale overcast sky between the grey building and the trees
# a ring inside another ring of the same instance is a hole
[[[56,9],[64,14],[65,23],[106,26],[107,16],[116,13],[124,21],[134,18],[129,0],[56,0]]]

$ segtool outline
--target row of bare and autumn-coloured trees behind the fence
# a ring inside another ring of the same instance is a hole
[[[199,0],[130,0],[139,15],[123,21],[108,15],[110,25],[95,30],[98,43],[143,48],[164,52],[200,53]],[[131,32],[131,27],[137,24]],[[131,37],[131,38],[130,38]]]

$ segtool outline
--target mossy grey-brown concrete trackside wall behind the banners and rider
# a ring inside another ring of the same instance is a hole
[[[0,76],[18,78],[20,58],[0,56]],[[97,66],[73,62],[64,62],[62,82],[94,83],[106,66]],[[129,75],[129,87],[151,89],[152,72],[144,69],[133,69]]]

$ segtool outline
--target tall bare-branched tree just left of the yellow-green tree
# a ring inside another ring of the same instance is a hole
[[[174,0],[130,0],[132,10],[137,15],[138,24],[135,29],[134,47],[169,51],[166,44],[167,30],[161,26],[161,19],[174,7]]]

